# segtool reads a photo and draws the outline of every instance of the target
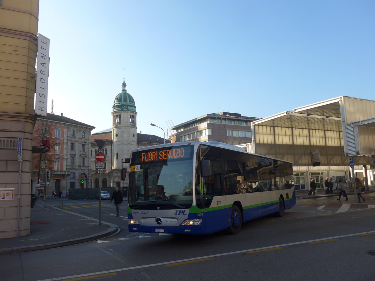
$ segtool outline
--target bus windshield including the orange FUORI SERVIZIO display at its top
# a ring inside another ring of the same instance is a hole
[[[135,151],[130,160],[131,209],[185,209],[193,203],[193,146]]]

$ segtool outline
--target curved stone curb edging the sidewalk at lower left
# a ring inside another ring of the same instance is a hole
[[[86,217],[86,216],[81,215],[81,214],[76,214],[74,212],[62,210],[60,208],[56,208],[55,206],[52,206],[52,205],[49,205],[49,204],[48,204],[48,206],[52,207],[54,209],[58,209],[60,211],[68,212],[70,214],[83,217],[83,218],[89,218],[90,220],[97,221],[99,223],[99,220],[96,220],[95,218],[90,218],[90,217]],[[101,221],[101,223],[108,224],[110,226],[110,228],[108,228],[107,230],[104,230],[102,232],[99,232],[99,233],[87,235],[87,236],[84,236],[84,237],[81,237],[81,238],[69,239],[69,240],[65,240],[65,241],[51,242],[51,243],[47,243],[47,244],[39,244],[39,245],[34,245],[34,246],[3,248],[3,249],[0,249],[0,255],[22,253],[22,252],[28,252],[28,251],[45,250],[45,249],[51,249],[51,248],[58,248],[58,247],[64,247],[64,246],[69,246],[69,245],[81,244],[81,243],[105,238],[105,237],[114,235],[114,234],[121,231],[120,227],[118,227],[116,224],[107,223],[105,221]]]

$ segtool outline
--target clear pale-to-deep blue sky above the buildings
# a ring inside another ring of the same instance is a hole
[[[375,1],[40,0],[48,112],[112,126],[127,91],[137,132],[228,111],[268,117],[338,96],[375,99]]]

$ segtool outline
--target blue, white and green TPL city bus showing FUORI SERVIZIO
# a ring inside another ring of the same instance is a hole
[[[208,234],[296,204],[292,163],[220,142],[133,149],[129,232]]]

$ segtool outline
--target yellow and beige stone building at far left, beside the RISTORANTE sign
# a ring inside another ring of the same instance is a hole
[[[38,0],[0,1],[0,238],[30,234],[38,13]]]

